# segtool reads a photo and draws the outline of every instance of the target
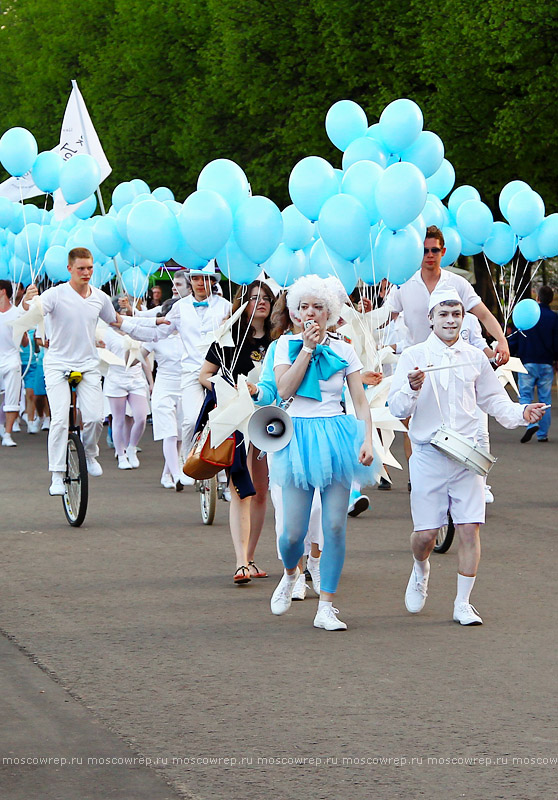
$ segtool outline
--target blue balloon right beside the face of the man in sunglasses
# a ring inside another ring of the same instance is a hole
[[[412,225],[397,231],[382,228],[376,237],[373,250],[376,274],[385,271],[389,282],[397,286],[414,275],[423,257],[424,240]]]

